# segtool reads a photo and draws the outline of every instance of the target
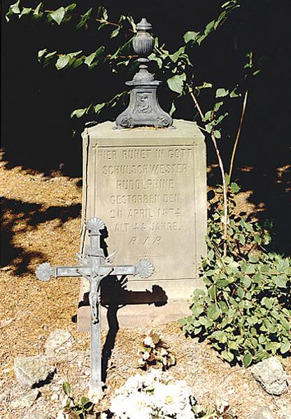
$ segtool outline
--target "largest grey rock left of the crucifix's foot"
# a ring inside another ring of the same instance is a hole
[[[45,381],[54,370],[54,365],[45,355],[20,357],[14,360],[14,373],[23,387],[33,387]]]

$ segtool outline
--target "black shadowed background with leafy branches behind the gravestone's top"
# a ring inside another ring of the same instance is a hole
[[[3,2],[4,12],[11,3]],[[38,3],[22,1],[14,8],[20,7],[22,10],[23,6],[26,8],[24,13],[28,13],[29,8],[37,10]],[[236,156],[236,166],[250,170],[235,172],[234,175],[239,174],[243,189],[254,191],[251,197],[254,203],[266,204],[264,218],[274,219],[277,228],[274,244],[278,249],[286,250],[289,242],[287,232],[290,227],[290,224],[286,225],[287,179],[283,172],[281,181],[277,182],[277,172],[278,168],[289,163],[288,136],[285,135],[282,121],[288,119],[286,104],[290,82],[287,71],[290,2],[238,1],[241,7],[232,10],[227,19],[223,15],[220,19],[223,3],[225,2],[216,0],[195,0],[191,3],[180,1],[177,7],[173,0],[139,4],[134,1],[106,1],[102,5],[83,1],[73,10],[68,10],[73,14],[71,21],[62,24],[59,23],[61,19],[66,20],[66,8],[70,8],[70,2],[50,1],[49,8],[52,12],[49,22],[45,22],[43,16],[32,20],[30,15],[23,15],[22,12],[20,19],[11,15],[10,22],[7,23],[2,15],[5,40],[2,40],[2,80],[5,97],[3,145],[10,166],[20,164],[44,172],[61,168],[65,174],[80,175],[79,133],[85,120],[114,119],[125,105],[113,98],[124,90],[124,82],[132,78],[129,71],[132,61],[127,65],[118,65],[115,61],[115,64],[108,66],[107,61],[99,61],[101,54],[95,54],[103,45],[106,54],[114,55],[120,45],[129,41],[132,36],[132,24],[123,18],[124,27],[120,31],[117,31],[118,27],[113,29],[111,25],[104,25],[97,30],[101,23],[94,20],[97,13],[99,19],[107,19],[103,14],[104,9],[99,6],[106,7],[108,20],[115,24],[120,22],[120,15],[132,15],[136,22],[144,15],[152,23],[153,33],[159,38],[159,45],[166,43],[164,50],[169,51],[165,54],[166,57],[162,57],[164,52],[160,50],[162,66],[161,61],[156,59],[151,70],[156,73],[158,79],[164,80],[159,91],[159,100],[163,108],[173,110],[173,99],[176,99],[174,117],[199,121],[190,94],[177,98],[180,87],[185,87],[183,73],[187,71],[179,68],[178,73],[173,73],[173,69],[179,60],[182,64],[183,60],[186,61],[187,68],[190,68],[187,58],[183,57],[184,53],[193,65],[192,84],[195,87],[207,87],[207,84],[212,84],[214,87],[202,89],[203,94],[199,97],[201,107],[206,112],[213,109],[215,96],[223,94],[223,91],[231,93],[236,84],[240,85],[236,94],[243,94],[246,89],[243,81],[246,74],[246,54],[253,52],[255,71],[261,69],[261,72],[255,81],[248,79],[250,98],[241,137],[243,145],[239,145]],[[34,13],[41,14],[41,8]],[[83,15],[83,20],[80,19],[80,15]],[[90,19],[85,22],[88,15]],[[80,22],[84,23],[83,26]],[[218,22],[217,27],[215,22]],[[183,48],[185,45],[184,41],[187,45],[185,50],[181,50],[181,46]],[[192,41],[195,41],[193,46]],[[37,55],[42,64],[47,64],[43,62],[45,55],[54,51],[57,53],[52,54],[52,59],[58,54],[56,61],[43,68],[36,59]],[[82,52],[76,54],[78,51]],[[68,53],[76,55],[68,57]],[[82,61],[80,57],[85,58]],[[166,62],[167,60],[169,62]],[[71,65],[68,65],[70,61]],[[57,71],[56,66],[61,69]],[[73,69],[73,66],[76,68]],[[113,108],[102,105],[112,99],[111,105],[116,102]],[[122,99],[127,101],[127,95],[123,95]],[[221,129],[215,128],[214,131],[217,140],[220,141],[222,159],[229,161],[234,133],[239,123],[242,96],[235,100],[225,97],[223,101],[226,101],[227,109],[221,108],[220,111],[223,112],[218,118],[226,113],[228,115],[220,121]],[[92,106],[82,119],[70,118],[74,109],[84,109],[90,103],[97,104],[97,111],[101,111],[99,115],[94,114]],[[209,117],[211,118],[211,115]],[[209,122],[212,122],[211,119]],[[222,130],[223,138],[220,138]],[[62,141],[59,138],[62,138]],[[216,163],[211,144],[208,147],[208,163]],[[215,170],[211,170],[209,183],[215,184],[217,179]],[[279,212],[278,205],[281,208]],[[277,237],[280,237],[280,240]]]

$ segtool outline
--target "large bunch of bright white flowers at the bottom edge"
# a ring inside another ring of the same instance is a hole
[[[194,419],[194,404],[185,381],[171,381],[152,370],[130,377],[115,393],[110,411],[115,419]]]

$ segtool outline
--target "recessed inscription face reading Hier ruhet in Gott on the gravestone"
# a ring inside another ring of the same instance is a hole
[[[153,278],[197,276],[194,145],[97,145],[95,153],[95,213],[110,226],[110,251],[123,263],[150,258]]]

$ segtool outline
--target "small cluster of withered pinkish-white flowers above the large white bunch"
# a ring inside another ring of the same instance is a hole
[[[169,347],[159,337],[157,332],[148,330],[143,335],[143,343],[139,346],[139,367],[150,369],[158,367],[163,371],[175,365],[176,359]]]

